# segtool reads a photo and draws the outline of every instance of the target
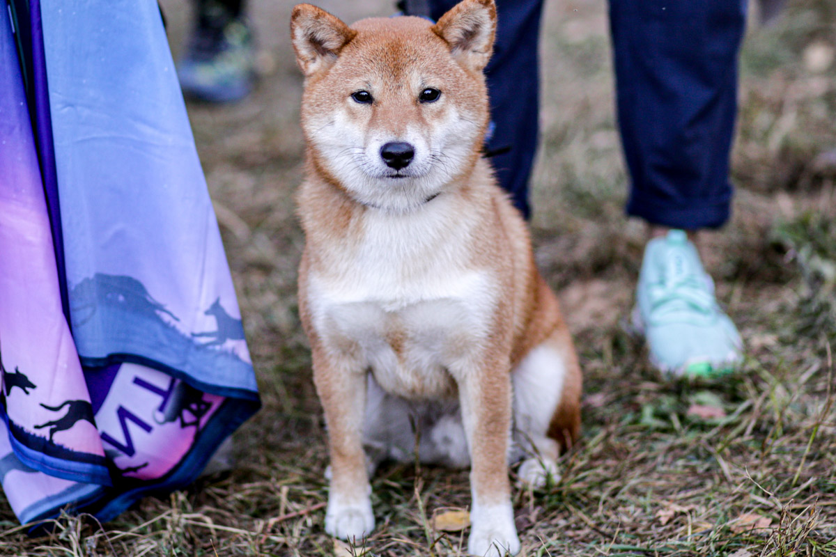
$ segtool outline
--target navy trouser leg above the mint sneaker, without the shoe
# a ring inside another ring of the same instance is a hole
[[[610,2],[627,212],[697,230],[727,220],[745,2]]]

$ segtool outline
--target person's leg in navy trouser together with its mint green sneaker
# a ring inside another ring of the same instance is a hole
[[[635,321],[663,371],[726,369],[740,359],[740,337],[681,230],[729,217],[745,2],[611,0],[609,8],[627,212],[659,236],[645,251]]]

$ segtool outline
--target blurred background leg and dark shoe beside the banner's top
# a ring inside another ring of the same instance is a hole
[[[196,0],[194,28],[177,64],[186,95],[222,103],[250,92],[254,49],[245,9],[245,0]]]

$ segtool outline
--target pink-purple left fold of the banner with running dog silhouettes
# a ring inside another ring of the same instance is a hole
[[[57,478],[110,484],[89,393],[64,319],[17,48],[0,16],[0,372],[9,450]],[[74,429],[74,433],[67,433]],[[0,455],[0,458],[5,455]],[[25,487],[15,486],[25,494]],[[11,499],[11,497],[10,497]]]

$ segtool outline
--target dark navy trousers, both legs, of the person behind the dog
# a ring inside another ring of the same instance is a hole
[[[456,3],[429,0],[429,16],[437,20]],[[728,219],[745,5],[745,0],[610,0],[629,215],[686,230],[714,228]],[[497,44],[485,70],[494,124],[487,149],[511,149],[492,163],[527,217],[538,142],[542,8],[543,0],[497,1]]]

